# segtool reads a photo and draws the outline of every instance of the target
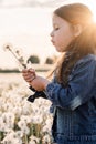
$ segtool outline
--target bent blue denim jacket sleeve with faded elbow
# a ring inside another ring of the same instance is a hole
[[[64,89],[57,82],[50,83],[45,93],[55,106],[75,110],[86,103],[93,95],[94,76],[96,70],[95,59],[79,60],[70,75],[68,86]]]

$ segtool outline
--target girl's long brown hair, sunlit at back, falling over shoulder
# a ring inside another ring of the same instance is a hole
[[[68,75],[74,64],[87,54],[95,53],[96,24],[92,11],[83,3],[72,3],[60,7],[54,14],[70,22],[72,25],[82,24],[83,32],[75,38],[65,49],[62,61],[56,66],[56,79],[67,86]],[[67,34],[67,33],[66,33]]]

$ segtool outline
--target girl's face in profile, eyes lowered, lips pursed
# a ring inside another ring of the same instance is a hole
[[[52,43],[58,52],[64,52],[65,48],[74,39],[72,25],[61,17],[53,16],[53,31],[51,32]]]

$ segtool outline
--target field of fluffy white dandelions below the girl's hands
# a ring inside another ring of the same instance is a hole
[[[51,144],[51,102],[26,101],[32,92],[15,74],[0,80],[0,144]]]

